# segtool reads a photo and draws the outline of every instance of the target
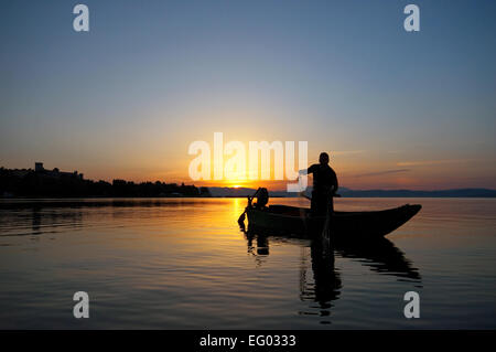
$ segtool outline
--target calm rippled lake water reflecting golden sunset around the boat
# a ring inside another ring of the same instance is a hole
[[[1,201],[0,329],[496,328],[496,200],[335,203],[423,209],[380,248],[323,257],[310,239],[247,236],[245,199]],[[89,319],[73,317],[76,291]]]

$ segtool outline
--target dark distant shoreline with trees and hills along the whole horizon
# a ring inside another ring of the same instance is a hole
[[[77,171],[46,170],[41,162],[35,169],[0,168],[0,199],[188,199],[188,198],[246,198],[252,188],[195,186],[163,181],[134,183],[126,180],[93,181]],[[306,189],[308,194],[312,188]],[[413,190],[352,190],[338,189],[343,198],[496,198],[496,190],[472,188],[434,191]],[[270,198],[298,198],[295,193],[270,191]]]

